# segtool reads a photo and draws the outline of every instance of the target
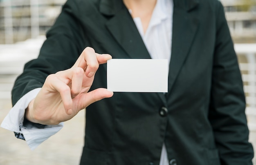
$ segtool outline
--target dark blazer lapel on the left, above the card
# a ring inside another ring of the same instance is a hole
[[[130,58],[150,58],[139,31],[122,0],[102,0],[100,11],[112,16],[106,22],[106,27]]]

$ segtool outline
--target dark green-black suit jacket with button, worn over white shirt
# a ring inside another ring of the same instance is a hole
[[[16,80],[13,104],[87,46],[113,58],[150,58],[122,0],[68,0],[38,59]],[[86,109],[81,164],[157,165],[163,143],[178,165],[252,164],[243,83],[219,1],[174,0],[171,51],[165,96],[118,92]],[[91,90],[99,87],[106,64]]]

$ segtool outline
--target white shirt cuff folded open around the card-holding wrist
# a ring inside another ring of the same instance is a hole
[[[34,150],[38,145],[43,143],[47,138],[56,134],[62,127],[63,123],[58,125],[45,125],[44,128],[35,127],[33,124],[23,125],[25,109],[28,107],[41,88],[36,88],[25,94],[9,111],[4,118],[1,127],[15,132],[16,137],[26,140],[30,149]]]

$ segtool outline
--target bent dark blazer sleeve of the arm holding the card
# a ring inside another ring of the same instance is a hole
[[[37,59],[27,62],[12,89],[13,105],[29,91],[42,87],[49,74],[65,70],[74,64],[85,47],[79,22],[77,0],[67,0],[61,14],[47,32],[47,39]]]

